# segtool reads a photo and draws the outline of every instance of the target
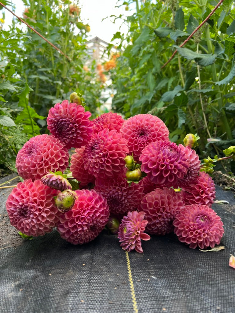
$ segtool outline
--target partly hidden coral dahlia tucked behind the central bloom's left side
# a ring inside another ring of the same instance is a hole
[[[85,147],[75,149],[75,153],[71,155],[70,171],[74,178],[80,182],[80,186],[86,186],[87,184],[94,183],[95,177],[90,175],[84,168],[83,152]]]

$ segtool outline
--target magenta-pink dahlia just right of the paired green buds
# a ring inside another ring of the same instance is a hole
[[[170,141],[156,141],[146,146],[140,155],[141,171],[158,185],[178,187],[187,174],[189,161],[181,149]]]

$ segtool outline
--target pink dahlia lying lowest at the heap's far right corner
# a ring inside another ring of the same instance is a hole
[[[176,214],[174,232],[190,248],[214,248],[224,233],[221,218],[207,205],[186,205]]]

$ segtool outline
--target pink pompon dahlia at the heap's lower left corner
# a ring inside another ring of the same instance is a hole
[[[11,225],[28,236],[50,233],[59,220],[53,198],[57,193],[40,180],[19,182],[6,202]]]

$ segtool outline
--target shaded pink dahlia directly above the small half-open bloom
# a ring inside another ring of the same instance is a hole
[[[137,209],[144,195],[143,185],[129,185],[125,175],[117,178],[97,178],[95,190],[107,199],[110,212],[114,215],[123,215]]]

